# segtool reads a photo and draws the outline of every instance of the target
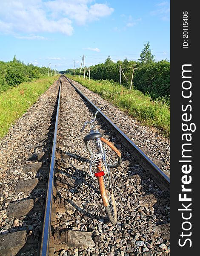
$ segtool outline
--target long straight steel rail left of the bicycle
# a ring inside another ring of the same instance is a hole
[[[54,139],[52,144],[51,163],[50,163],[50,170],[49,170],[49,181],[48,181],[48,189],[47,189],[47,195],[46,195],[45,216],[43,221],[43,234],[42,234],[42,242],[40,247],[40,256],[49,255],[49,241],[50,241],[50,234],[51,234],[51,211],[52,211],[52,198],[53,198],[53,187],[54,187],[54,166],[55,166],[57,127],[58,127],[61,87],[62,87],[62,80],[60,78],[57,113],[56,113],[56,121],[55,121],[55,128],[54,128]]]

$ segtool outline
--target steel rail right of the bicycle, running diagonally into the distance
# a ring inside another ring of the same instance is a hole
[[[74,89],[89,103],[89,105],[95,110],[99,110],[94,103],[92,103],[66,76],[64,76]],[[136,156],[140,165],[148,172],[152,179],[163,191],[170,191],[170,178],[157,166],[152,160],[144,154],[144,152],[137,147],[130,139],[123,133],[104,113],[99,112],[101,118],[109,125],[109,127],[117,134],[123,145],[129,150],[132,156]]]

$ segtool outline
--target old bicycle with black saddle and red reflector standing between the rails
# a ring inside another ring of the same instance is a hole
[[[106,107],[107,105],[96,111],[94,119],[85,122],[80,131],[83,132],[87,124],[91,125],[90,133],[83,139],[87,150],[91,154],[90,174],[94,180],[98,180],[103,206],[109,220],[115,225],[117,223],[117,209],[113,193],[115,179],[110,168],[120,166],[122,162],[121,153],[112,143],[102,137],[95,124],[97,113]]]

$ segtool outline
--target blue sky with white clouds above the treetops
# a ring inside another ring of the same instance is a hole
[[[155,60],[170,60],[170,1],[8,0],[0,7],[0,61],[66,70],[138,60],[149,41]]]

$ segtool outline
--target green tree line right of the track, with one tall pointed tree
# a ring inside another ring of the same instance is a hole
[[[133,76],[133,86],[143,93],[148,93],[152,99],[164,98],[167,101],[170,97],[170,62],[167,60],[155,61],[154,55],[151,53],[149,42],[144,45],[144,49],[140,53],[138,61],[128,61],[125,58],[123,61],[114,62],[110,56],[104,63],[90,67],[90,76],[96,80],[112,80],[120,81],[120,66],[124,75],[121,75],[122,85],[130,87],[132,69],[135,67]],[[86,67],[87,73],[88,67]],[[74,74],[74,69],[68,69],[63,73]],[[75,69],[75,74],[80,74],[80,68]],[[81,76],[83,75],[83,69]]]

